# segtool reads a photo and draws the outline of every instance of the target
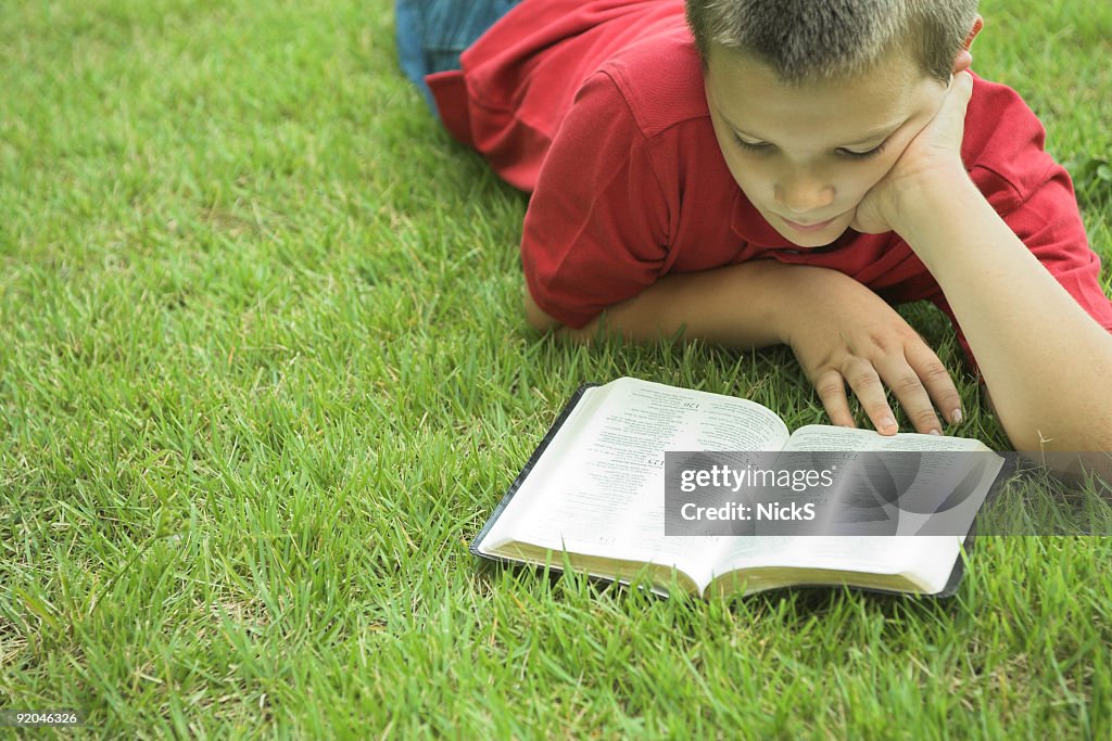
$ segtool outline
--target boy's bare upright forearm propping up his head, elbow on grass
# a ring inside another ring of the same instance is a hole
[[[1019,450],[1112,450],[1112,337],[964,172],[904,198],[895,230],[937,280]]]

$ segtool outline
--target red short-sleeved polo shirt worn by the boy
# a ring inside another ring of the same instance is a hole
[[[757,259],[833,268],[892,303],[925,299],[954,319],[897,234],[850,230],[828,247],[798,249],[748,202],[714,136],[682,1],[524,0],[460,64],[427,81],[451,134],[533,192],[525,279],[537,306],[563,323],[583,327],[672,271]],[[962,147],[970,177],[1112,331],[1100,260],[1043,139],[1013,90],[974,76]]]

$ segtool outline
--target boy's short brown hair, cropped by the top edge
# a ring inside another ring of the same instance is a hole
[[[711,44],[749,54],[785,82],[861,74],[903,44],[945,83],[977,0],[687,0],[704,64]]]

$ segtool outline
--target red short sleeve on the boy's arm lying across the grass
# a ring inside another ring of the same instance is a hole
[[[578,91],[525,214],[522,266],[533,299],[580,328],[664,271],[668,207],[649,140],[605,72]]]

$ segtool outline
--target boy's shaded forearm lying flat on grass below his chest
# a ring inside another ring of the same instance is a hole
[[[785,296],[791,296],[786,281],[798,268],[757,260],[697,273],[671,273],[582,329],[559,327],[540,312],[528,293],[526,313],[535,328],[559,327],[560,334],[580,341],[595,338],[599,330],[637,342],[674,337],[682,330],[688,340],[761,348],[783,341]]]

